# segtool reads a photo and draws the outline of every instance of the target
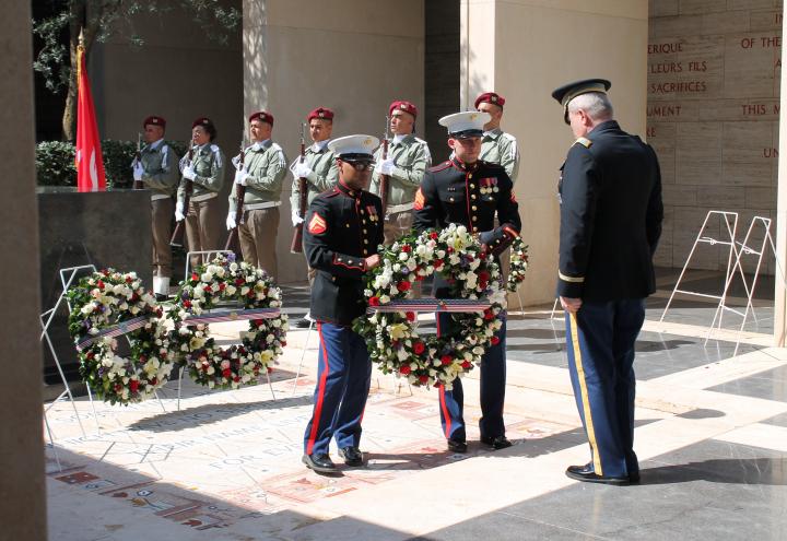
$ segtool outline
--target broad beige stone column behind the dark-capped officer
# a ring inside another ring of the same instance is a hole
[[[506,98],[502,128],[519,144],[516,198],[531,266],[526,305],[554,298],[560,213],[559,168],[573,137],[556,86],[586,78],[612,81],[624,130],[645,137],[648,2],[631,0],[462,0],[461,104],[495,91]],[[509,298],[514,306],[516,296]]]

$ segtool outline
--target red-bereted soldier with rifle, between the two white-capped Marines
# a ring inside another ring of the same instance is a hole
[[[414,136],[418,108],[413,104],[393,102],[388,107],[388,114],[393,139],[388,146],[386,160],[383,160],[383,146],[375,153],[377,166],[372,176],[369,191],[383,197],[380,176],[387,175],[385,243],[391,245],[412,227],[415,191],[421,186],[426,169],[432,165],[432,155],[426,141]]]

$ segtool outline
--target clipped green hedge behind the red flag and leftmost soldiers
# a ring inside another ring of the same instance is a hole
[[[178,156],[187,150],[184,141],[172,141],[167,144]],[[133,175],[131,162],[137,152],[137,141],[102,141],[104,172],[107,188],[131,188]],[[74,145],[64,141],[44,141],[36,146],[36,177],[38,186],[77,186],[77,167],[74,166]]]

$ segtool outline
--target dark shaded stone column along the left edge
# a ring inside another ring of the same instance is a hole
[[[0,126],[7,133],[0,192],[0,525],[3,539],[46,539],[42,361],[38,341],[38,231],[33,134],[30,2],[0,3]]]

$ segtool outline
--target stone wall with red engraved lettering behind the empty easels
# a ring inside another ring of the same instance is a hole
[[[708,210],[738,212],[741,240],[752,216],[776,217],[782,1],[651,0],[649,10],[647,139],[666,211],[656,262],[682,267]],[[719,220],[705,234],[729,239]],[[691,267],[725,269],[727,256],[703,245]]]

